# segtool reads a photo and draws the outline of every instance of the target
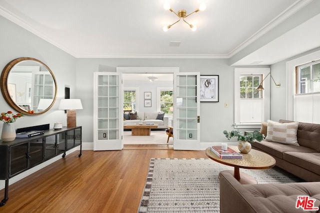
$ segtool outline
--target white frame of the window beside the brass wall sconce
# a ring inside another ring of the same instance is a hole
[[[266,77],[262,83],[262,120],[260,122],[246,123],[240,119],[240,76],[262,75],[262,79],[270,72],[270,68],[234,68],[234,128],[257,129],[262,121],[270,119],[270,77]],[[254,101],[256,99],[252,99]]]

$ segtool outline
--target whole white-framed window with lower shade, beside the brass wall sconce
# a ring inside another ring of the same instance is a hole
[[[270,78],[263,81],[269,68],[234,69],[234,126],[235,128],[259,128],[262,121],[270,118]]]

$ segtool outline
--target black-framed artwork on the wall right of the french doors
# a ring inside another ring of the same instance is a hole
[[[218,75],[200,75],[200,102],[219,102]]]

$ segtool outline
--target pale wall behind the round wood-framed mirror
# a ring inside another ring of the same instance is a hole
[[[17,26],[0,16],[0,70],[11,60],[18,57],[33,57],[45,63],[53,72],[57,82],[57,100],[53,107],[43,115],[24,116],[15,123],[15,128],[22,128],[41,124],[62,122],[66,125],[64,111],[57,110],[59,100],[64,98],[64,85],[70,85],[70,97],[74,98],[75,90],[75,58],[52,44],[33,35],[29,31]],[[0,112],[12,110],[0,95]],[[2,129],[0,122],[0,130]]]

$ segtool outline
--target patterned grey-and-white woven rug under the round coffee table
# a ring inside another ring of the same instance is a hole
[[[138,213],[218,213],[218,174],[233,167],[210,159],[151,158]],[[277,168],[240,169],[258,184],[303,180]]]

